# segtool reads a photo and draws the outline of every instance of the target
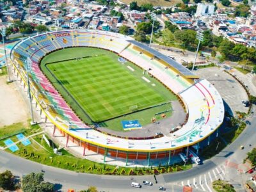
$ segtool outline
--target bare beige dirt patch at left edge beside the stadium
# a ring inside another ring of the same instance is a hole
[[[6,76],[0,77],[0,127],[22,122],[28,124],[29,111],[15,83],[6,84]]]

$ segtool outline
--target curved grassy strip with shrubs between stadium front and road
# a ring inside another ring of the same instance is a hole
[[[36,142],[35,142],[35,141]],[[41,136],[35,136],[30,139],[31,145],[24,147],[21,143],[17,144],[19,150],[14,154],[20,157],[24,157],[31,161],[36,161],[38,163],[46,164],[49,166],[54,166],[58,168],[63,168],[65,170],[72,170],[75,172],[82,173],[94,173],[94,174],[106,174],[106,175],[150,175],[158,173],[167,173],[167,172],[179,172],[182,170],[188,170],[192,165],[186,164],[175,164],[173,166],[161,165],[156,168],[124,168],[119,167],[116,169],[116,166],[111,166],[108,164],[95,163],[89,161],[88,159],[80,159],[72,156],[66,150],[62,149],[62,156],[58,156],[52,152],[52,148],[49,147]],[[39,145],[38,145],[39,143]],[[43,148],[44,147],[44,148]],[[54,147],[57,147],[54,144]],[[6,151],[10,152],[9,149]]]

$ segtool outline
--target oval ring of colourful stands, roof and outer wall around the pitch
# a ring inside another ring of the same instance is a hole
[[[186,121],[170,134],[153,138],[113,136],[82,122],[40,70],[40,61],[45,55],[66,47],[107,49],[147,70],[177,95],[186,112]],[[66,147],[68,142],[77,143],[83,147],[83,155],[86,150],[92,150],[104,157],[148,159],[148,162],[166,157],[170,162],[174,154],[218,136],[218,127],[223,122],[223,100],[209,81],[128,36],[104,31],[51,31],[19,42],[12,49],[11,60],[13,72],[24,90],[28,86],[26,68],[29,65],[32,102],[40,116],[45,117],[45,122],[52,123],[52,137],[56,130],[60,131],[67,140]]]

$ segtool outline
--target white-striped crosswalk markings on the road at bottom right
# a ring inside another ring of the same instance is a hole
[[[189,186],[202,191],[212,192],[212,182],[218,179],[225,180],[225,177],[225,166],[221,164],[220,166],[216,166],[209,172],[205,172],[198,177],[193,177],[188,180],[182,180],[178,184],[181,186]]]

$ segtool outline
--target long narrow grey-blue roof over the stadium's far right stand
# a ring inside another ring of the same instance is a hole
[[[157,58],[165,61],[166,63],[171,65],[173,68],[176,68],[177,70],[179,70],[179,72],[181,74],[183,74],[184,76],[196,77],[196,75],[193,74],[193,72],[191,72],[190,70],[188,70],[188,68],[180,65],[178,62],[172,60],[168,56],[165,56],[164,54],[161,54],[159,51],[156,51],[155,49],[152,49],[152,48],[148,47],[148,45],[141,44],[140,42],[137,42],[135,40],[127,40],[127,42],[130,42],[131,44],[134,44],[134,45],[140,47],[141,49],[144,49],[145,51],[148,51],[148,52],[154,54],[154,56],[156,56]]]

